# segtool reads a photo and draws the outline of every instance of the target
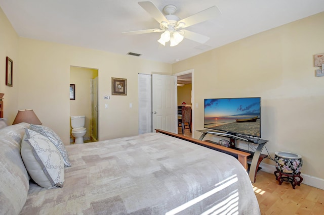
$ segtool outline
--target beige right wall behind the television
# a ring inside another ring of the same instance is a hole
[[[261,96],[271,156],[299,153],[302,173],[324,179],[324,77],[315,77],[313,67],[313,56],[324,52],[323,35],[320,13],[173,64],[173,73],[194,69],[196,130],[204,128],[204,98]]]

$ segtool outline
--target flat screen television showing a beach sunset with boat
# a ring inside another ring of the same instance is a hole
[[[205,99],[204,128],[261,137],[261,97]]]

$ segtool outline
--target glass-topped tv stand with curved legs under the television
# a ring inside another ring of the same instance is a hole
[[[249,168],[249,177],[250,177],[250,180],[252,183],[255,182],[256,177],[257,177],[257,171],[259,171],[261,169],[259,167],[259,165],[262,162],[262,160],[268,156],[266,154],[261,154],[261,152],[262,152],[265,144],[268,142],[268,140],[244,138],[244,137],[239,137],[239,136],[236,136],[233,134],[229,134],[229,133],[225,133],[225,132],[218,132],[218,131],[213,131],[213,130],[208,130],[208,129],[198,130],[198,132],[201,132],[201,136],[199,137],[199,140],[203,140],[207,134],[228,137],[228,138],[230,138],[230,147],[231,148],[251,153],[251,155],[248,157],[248,160],[250,160],[250,162],[251,162],[250,168]],[[241,140],[241,141],[249,142],[252,144],[257,144],[258,147],[254,153],[251,151],[244,150],[244,149],[236,148],[236,140]],[[212,142],[210,140],[205,140],[205,141]],[[218,144],[216,142],[213,142],[213,143]]]

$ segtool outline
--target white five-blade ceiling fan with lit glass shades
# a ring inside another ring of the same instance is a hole
[[[194,24],[204,22],[209,19],[213,19],[218,15],[221,15],[220,10],[213,6],[204,11],[200,11],[192,16],[180,20],[179,17],[174,15],[177,11],[177,7],[174,5],[167,5],[164,7],[163,12],[166,16],[158,10],[158,8],[150,1],[138,3],[147,13],[149,13],[160,25],[159,28],[128,31],[123,32],[126,35],[145,34],[154,32],[163,32],[159,40],[162,45],[166,45],[166,42],[170,41],[170,46],[178,45],[183,38],[187,38],[199,43],[205,43],[209,40],[208,36],[204,36],[192,31],[188,31],[182,28],[192,26]]]

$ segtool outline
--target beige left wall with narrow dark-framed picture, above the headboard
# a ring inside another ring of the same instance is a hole
[[[0,8],[0,92],[4,95],[4,118],[12,124],[18,113],[19,58],[18,35]],[[13,60],[13,86],[6,86],[6,57]],[[12,99],[15,98],[15,99]]]

